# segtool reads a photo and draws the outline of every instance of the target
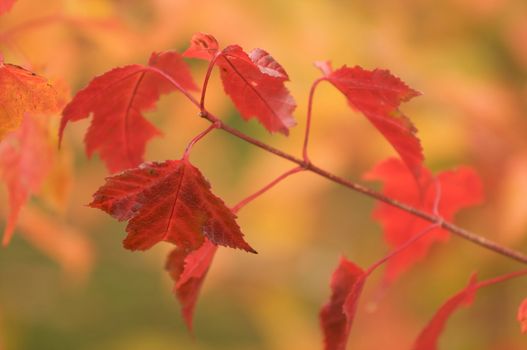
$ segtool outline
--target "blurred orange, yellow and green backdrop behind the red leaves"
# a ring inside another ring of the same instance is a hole
[[[0,51],[6,62],[74,94],[110,68],[146,63],[152,51],[183,51],[198,31],[224,46],[261,47],[284,66],[299,105],[288,138],[241,121],[217,73],[207,104],[228,124],[297,155],[309,87],[320,74],[312,62],[390,69],[423,93],[402,110],[419,129],[426,165],[433,171],[471,165],[483,178],[486,203],[456,222],[527,251],[527,2],[18,0],[0,17]],[[189,63],[201,85],[206,64]],[[164,136],[149,143],[147,160],[180,158],[207,126],[177,94],[163,96],[148,119]],[[370,217],[372,200],[312,174],[295,175],[239,213],[259,254],[219,250],[192,337],[163,270],[170,247],[125,251],[125,224],[86,206],[107,175],[97,156],[84,154],[88,125],[68,127],[43,190],[0,251],[2,350],[320,349],[318,311],[339,256],[365,267],[387,252]],[[329,84],[317,91],[312,130],[311,159],[346,178],[361,181],[395,155]],[[192,161],[228,205],[291,166],[221,132],[196,145]],[[409,349],[471,272],[485,279],[519,268],[452,237],[382,298],[376,294],[382,274],[369,280],[348,348]],[[524,297],[525,278],[481,290],[471,308],[450,320],[441,348],[525,349],[516,321]]]

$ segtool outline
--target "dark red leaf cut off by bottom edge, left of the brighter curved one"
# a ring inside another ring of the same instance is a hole
[[[331,276],[331,299],[320,311],[324,349],[344,350],[366,281],[364,271],[342,257]]]

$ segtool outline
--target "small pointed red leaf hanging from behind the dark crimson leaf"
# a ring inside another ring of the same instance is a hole
[[[217,246],[205,239],[198,249],[188,252],[176,247],[168,255],[166,270],[174,280],[174,294],[181,304],[183,318],[192,330],[192,318],[203,280],[209,271]]]

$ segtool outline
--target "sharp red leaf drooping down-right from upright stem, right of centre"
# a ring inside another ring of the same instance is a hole
[[[418,178],[424,159],[421,143],[416,136],[417,129],[399,111],[399,106],[420,93],[388,70],[366,70],[358,66],[333,70],[329,62],[316,65],[324,79],[346,96],[352,108],[368,118]]]

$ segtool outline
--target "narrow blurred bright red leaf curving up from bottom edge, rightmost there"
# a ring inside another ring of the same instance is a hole
[[[472,304],[479,288],[476,274],[470,277],[468,285],[448,299],[436,312],[432,320],[417,338],[413,350],[437,350],[437,340],[450,316],[461,306]]]

